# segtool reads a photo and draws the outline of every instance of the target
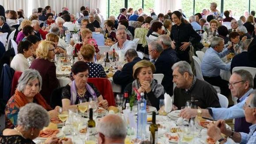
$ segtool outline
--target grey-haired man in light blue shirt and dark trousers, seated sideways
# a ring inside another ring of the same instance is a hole
[[[226,56],[232,45],[229,45],[224,51],[223,38],[214,37],[211,40],[211,47],[205,52],[205,56],[202,60],[202,75],[208,83],[213,86],[221,88],[221,94],[228,97],[230,90],[228,89],[228,81],[223,80],[220,76],[220,70],[230,70],[230,63],[224,63],[221,58]]]

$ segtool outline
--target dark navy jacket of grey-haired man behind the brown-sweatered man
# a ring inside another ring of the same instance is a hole
[[[155,62],[156,71],[155,74],[163,74],[162,85],[166,93],[173,95],[173,71],[172,66],[176,61],[171,56],[172,54],[176,55],[175,50],[165,49],[157,58]],[[176,55],[177,57],[177,55]],[[177,59],[177,58],[176,58]]]

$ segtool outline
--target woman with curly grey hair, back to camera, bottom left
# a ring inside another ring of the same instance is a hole
[[[38,86],[33,86],[38,88]],[[32,88],[33,89],[33,88]],[[18,99],[20,101],[20,99]],[[42,98],[42,100],[44,100]],[[14,101],[14,99],[13,99]],[[49,115],[44,106],[35,103],[29,103],[19,107],[16,111],[17,125],[14,129],[5,129],[3,135],[0,136],[0,143],[14,144],[35,144],[33,139],[39,136],[40,130],[49,125]],[[54,144],[62,142],[63,144],[72,144],[71,139],[67,141],[58,141],[56,136],[47,138],[45,144]]]

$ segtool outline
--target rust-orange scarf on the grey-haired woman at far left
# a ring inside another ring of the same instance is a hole
[[[37,93],[34,98],[37,102],[37,104],[41,105],[43,108],[45,108],[47,111],[51,110],[51,106],[49,106],[47,104],[47,102],[45,101],[45,99],[42,97],[42,95],[40,93]],[[15,94],[14,94],[14,102],[17,104],[17,106],[22,107],[25,106],[26,104],[29,103],[28,99],[26,98],[26,96],[18,91],[15,90]]]

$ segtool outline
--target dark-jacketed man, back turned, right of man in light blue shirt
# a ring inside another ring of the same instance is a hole
[[[248,46],[250,45],[250,42],[251,40],[249,39],[243,41],[243,51],[240,54],[233,57],[230,65],[231,73],[234,67],[256,67],[256,62],[251,61],[248,58],[247,50],[248,50]]]

